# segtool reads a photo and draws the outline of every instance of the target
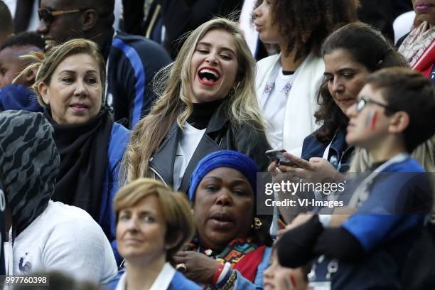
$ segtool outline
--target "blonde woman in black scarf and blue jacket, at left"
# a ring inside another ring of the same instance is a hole
[[[104,105],[102,54],[96,43],[73,39],[33,60],[21,75],[37,70],[33,90],[55,130],[60,168],[53,200],[86,210],[114,241],[112,200],[129,131]]]

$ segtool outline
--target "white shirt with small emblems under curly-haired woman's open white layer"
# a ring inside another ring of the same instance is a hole
[[[267,119],[269,141],[274,149],[283,148],[283,128],[284,114],[286,112],[286,102],[293,85],[294,75],[284,75],[282,70],[279,70],[275,80],[274,90],[270,93],[264,107],[262,108],[264,118]]]

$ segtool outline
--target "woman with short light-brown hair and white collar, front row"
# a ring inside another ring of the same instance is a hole
[[[200,289],[169,264],[193,237],[193,218],[186,196],[160,181],[139,178],[114,199],[117,244],[127,271],[117,290]]]

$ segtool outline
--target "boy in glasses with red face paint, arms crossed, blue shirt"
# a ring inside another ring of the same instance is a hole
[[[347,115],[346,141],[373,161],[348,204],[356,213],[335,227],[331,215],[299,218],[278,242],[279,262],[299,267],[323,256],[331,289],[401,289],[407,254],[432,205],[430,181],[409,153],[435,133],[434,87],[407,68],[379,70]]]

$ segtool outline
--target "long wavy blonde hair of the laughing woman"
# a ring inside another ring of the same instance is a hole
[[[196,45],[208,31],[222,29],[230,33],[236,46],[237,77],[235,86],[225,98],[227,115],[232,128],[247,124],[254,129],[264,129],[254,87],[255,60],[247,46],[238,24],[226,18],[215,18],[196,28],[183,44],[176,60],[156,74],[154,90],[159,96],[151,112],[141,119],[131,132],[124,154],[121,183],[136,178],[149,177],[149,159],[159,148],[173,122],[183,129],[193,111],[190,87],[190,63]],[[163,92],[162,92],[163,91]]]

